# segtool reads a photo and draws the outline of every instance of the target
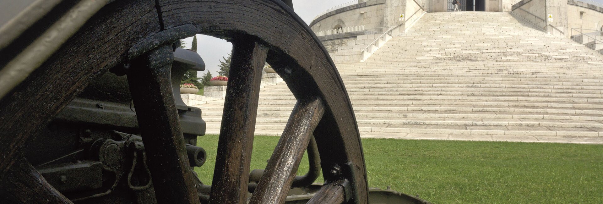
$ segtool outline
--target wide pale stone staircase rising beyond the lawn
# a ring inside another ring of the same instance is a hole
[[[603,56],[508,13],[428,13],[363,63],[337,63],[364,137],[603,143]],[[294,97],[260,92],[256,134],[280,135]],[[202,104],[207,133],[222,106]]]

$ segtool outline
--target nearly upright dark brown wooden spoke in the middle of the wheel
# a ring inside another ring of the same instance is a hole
[[[233,42],[210,203],[247,202],[257,103],[267,53],[268,49],[257,42]]]

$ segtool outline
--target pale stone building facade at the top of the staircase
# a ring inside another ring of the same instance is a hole
[[[387,41],[409,30],[425,13],[452,11],[453,0],[358,0],[328,10],[309,25],[338,62],[363,60]],[[601,36],[603,8],[575,0],[459,0],[463,11],[509,12],[526,26],[545,33],[575,37]],[[363,30],[352,30],[362,26]],[[328,33],[328,32],[327,32]]]

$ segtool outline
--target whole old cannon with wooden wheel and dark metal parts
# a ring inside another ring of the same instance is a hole
[[[0,203],[368,203],[371,192],[423,203],[369,190],[343,81],[286,3],[0,2]],[[204,68],[177,48],[194,34],[233,43],[212,186],[192,171],[206,157],[201,110],[176,87]],[[265,170],[250,174],[265,62],[297,104]],[[312,171],[296,176],[306,148]]]

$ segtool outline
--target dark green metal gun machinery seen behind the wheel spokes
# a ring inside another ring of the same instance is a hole
[[[180,79],[189,69],[204,71],[203,59],[194,51],[175,49],[172,92],[192,170],[206,161],[205,150],[196,146],[197,136],[205,135],[206,123],[201,110],[186,106],[180,97]],[[25,158],[72,201],[113,203],[124,197],[103,197],[130,191],[133,196],[125,197],[138,203],[156,203],[130,96],[127,77],[107,72],[30,142],[33,151],[26,151]]]

